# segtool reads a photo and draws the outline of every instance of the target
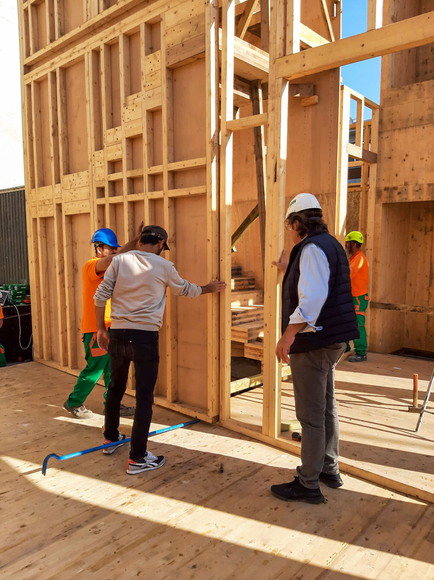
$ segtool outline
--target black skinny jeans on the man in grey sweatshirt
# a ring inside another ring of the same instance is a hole
[[[131,361],[136,376],[136,411],[131,433],[129,458],[139,461],[146,453],[149,427],[154,403],[154,386],[157,382],[158,332],[138,329],[111,329],[110,343],[111,380],[108,385],[104,437],[110,441],[119,438],[119,412],[126,389]]]

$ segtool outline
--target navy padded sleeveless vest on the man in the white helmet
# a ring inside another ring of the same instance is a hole
[[[327,256],[330,267],[328,296],[315,324],[323,329],[316,332],[298,332],[290,354],[306,353],[360,336],[351,293],[348,258],[342,245],[328,233],[308,235],[292,248],[290,262],[282,282],[282,334],[290,322],[291,314],[298,306],[300,258],[306,244],[315,244]]]

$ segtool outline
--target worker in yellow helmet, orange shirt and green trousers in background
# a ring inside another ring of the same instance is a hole
[[[345,250],[350,260],[351,292],[360,332],[360,338],[353,341],[355,354],[348,358],[349,362],[363,362],[367,360],[366,349],[368,344],[365,329],[365,313],[369,300],[369,267],[368,260],[360,249],[361,244],[363,244],[363,235],[360,231],[350,231],[345,238]],[[350,350],[350,344],[347,342],[345,352],[348,353]]]

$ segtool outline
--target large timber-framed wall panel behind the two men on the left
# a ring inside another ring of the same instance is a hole
[[[19,1],[35,360],[78,374],[92,232],[169,232],[183,277],[218,277],[218,5]],[[168,293],[155,401],[218,416],[218,297]],[[130,390],[133,389],[130,376]]]

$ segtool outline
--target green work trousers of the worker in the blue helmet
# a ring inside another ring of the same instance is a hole
[[[96,332],[85,332],[82,338],[86,366],[78,375],[74,390],[67,400],[68,407],[81,407],[97,380],[104,373],[104,407],[106,405],[107,387],[110,383],[110,355],[100,349],[96,342]]]

